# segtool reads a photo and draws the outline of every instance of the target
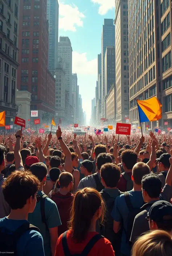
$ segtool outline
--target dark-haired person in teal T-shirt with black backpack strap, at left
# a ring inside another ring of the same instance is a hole
[[[38,178],[40,186],[37,192],[36,207],[28,215],[28,220],[40,229],[44,239],[45,256],[54,256],[58,239],[58,226],[61,225],[61,220],[56,204],[43,192],[47,167],[44,163],[35,163],[30,166],[30,171]]]

